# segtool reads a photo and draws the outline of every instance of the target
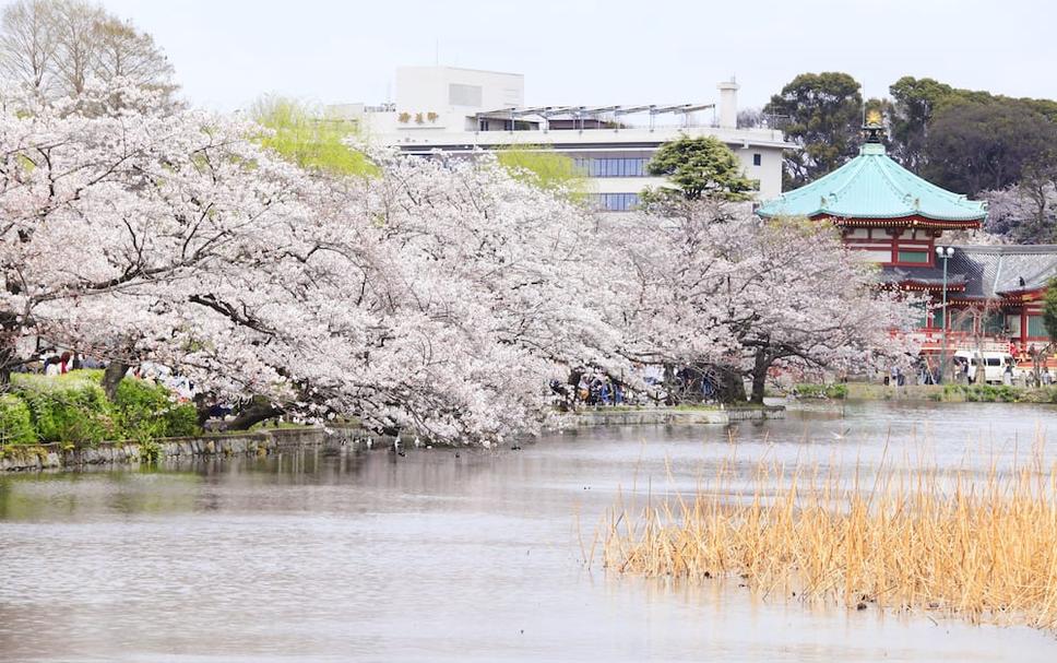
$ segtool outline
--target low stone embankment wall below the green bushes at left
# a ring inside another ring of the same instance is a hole
[[[380,445],[392,445],[391,439],[377,437],[375,439]],[[322,446],[358,447],[366,440],[367,436],[359,428],[306,427],[262,429],[194,438],[165,438],[150,442],[102,442],[84,448],[58,443],[10,446],[0,449],[0,472],[134,464],[145,459],[165,461],[195,457],[268,455],[278,451]]]

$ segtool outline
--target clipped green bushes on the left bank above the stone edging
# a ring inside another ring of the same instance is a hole
[[[84,446],[201,433],[194,406],[175,403],[165,387],[126,378],[111,402],[102,379],[102,370],[13,375],[0,394],[0,445]]]

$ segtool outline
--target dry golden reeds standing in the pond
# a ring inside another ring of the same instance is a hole
[[[619,498],[596,545],[619,573],[1054,629],[1055,467],[1041,443],[1029,455],[1001,470],[761,461],[747,483],[723,462],[688,497]]]

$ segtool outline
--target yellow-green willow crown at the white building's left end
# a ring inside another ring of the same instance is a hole
[[[302,168],[332,175],[372,176],[378,169],[345,141],[356,135],[347,120],[328,118],[317,108],[295,99],[265,96],[251,109],[253,119],[268,129],[260,143]]]

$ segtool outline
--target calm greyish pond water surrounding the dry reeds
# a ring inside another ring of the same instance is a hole
[[[580,544],[618,492],[692,488],[732,453],[985,467],[1047,434],[1045,406],[800,405],[520,451],[0,476],[0,660],[1054,661],[1053,634],[615,577]]]

